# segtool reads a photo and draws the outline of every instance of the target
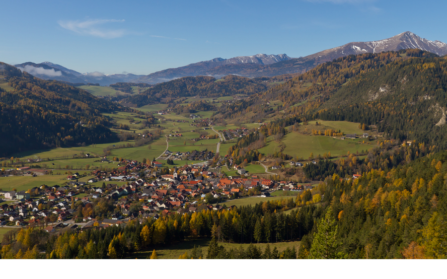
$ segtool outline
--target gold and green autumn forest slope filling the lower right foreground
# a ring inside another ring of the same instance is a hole
[[[353,258],[402,258],[414,251],[419,258],[445,258],[446,174],[443,151],[354,181],[327,179],[324,201],[338,219],[343,250]]]

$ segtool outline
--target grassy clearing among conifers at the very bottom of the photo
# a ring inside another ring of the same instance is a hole
[[[190,253],[194,245],[196,247],[199,247],[203,251],[203,258],[206,259],[207,257],[207,251],[208,251],[208,245],[210,244],[211,239],[209,238],[199,238],[199,239],[185,239],[184,241],[180,243],[176,243],[170,246],[161,247],[159,249],[155,249],[155,253],[157,254],[158,259],[169,259],[169,260],[175,260],[178,259],[178,257],[185,252]],[[219,245],[224,246],[224,248],[228,251],[230,249],[238,249],[240,246],[244,248],[244,250],[247,249],[247,247],[250,244],[238,244],[238,243],[226,243],[226,242],[218,242]],[[261,252],[264,252],[267,244],[266,243],[253,243],[254,246],[261,249]],[[286,250],[288,247],[295,247],[295,249],[298,251],[300,245],[300,241],[291,241],[291,242],[278,242],[278,243],[270,243],[270,251],[272,251],[275,246],[278,249],[278,251],[281,253],[282,251]],[[127,259],[146,259],[146,257],[150,257],[153,250],[145,251],[145,252],[137,252],[127,255]]]

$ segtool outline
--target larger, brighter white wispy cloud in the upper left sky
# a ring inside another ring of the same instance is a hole
[[[126,35],[125,29],[111,29],[103,27],[110,23],[123,23],[124,19],[88,19],[84,21],[58,21],[58,24],[65,29],[73,31],[79,35],[93,36],[104,39],[119,38]]]

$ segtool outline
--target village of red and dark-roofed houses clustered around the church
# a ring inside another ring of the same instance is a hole
[[[56,225],[101,228],[135,218],[222,210],[225,207],[220,206],[220,202],[248,196],[268,197],[275,190],[311,189],[310,185],[291,181],[247,176],[245,171],[239,171],[241,176],[225,177],[219,171],[209,170],[206,163],[163,169],[157,161],[144,164],[123,159],[120,165],[111,172],[92,171],[89,175],[93,177],[87,182],[78,182],[85,174],[74,173],[67,176],[64,185],[42,185],[20,192],[1,191],[5,200],[14,202],[1,206],[0,225],[37,225],[47,227],[48,231]],[[102,187],[91,186],[101,181]],[[118,182],[125,184],[118,186]],[[100,201],[112,205],[111,210],[99,214],[85,210],[95,208]]]

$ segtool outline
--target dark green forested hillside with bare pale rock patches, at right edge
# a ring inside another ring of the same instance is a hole
[[[447,60],[412,58],[359,75],[314,117],[377,125],[392,139],[447,148]]]

